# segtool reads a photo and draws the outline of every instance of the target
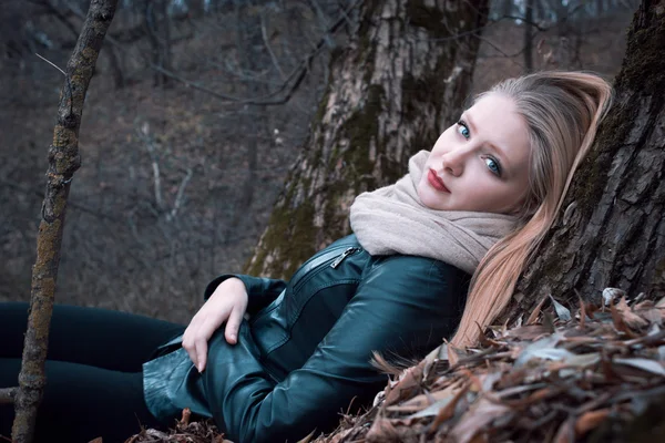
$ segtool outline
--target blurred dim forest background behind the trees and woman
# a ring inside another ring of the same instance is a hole
[[[359,3],[121,0],[83,111],[57,301],[185,323],[209,279],[242,271]],[[64,68],[88,1],[0,4],[0,300],[28,300],[63,83],[35,54]],[[636,7],[492,0],[473,92],[540,69],[611,79]]]

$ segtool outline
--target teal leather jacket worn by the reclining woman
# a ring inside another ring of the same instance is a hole
[[[209,297],[224,279],[213,280]],[[183,408],[214,418],[236,443],[295,442],[328,432],[349,405],[368,405],[387,377],[372,351],[420,359],[458,326],[469,276],[413,256],[370,256],[354,235],[307,260],[285,282],[238,276],[249,321],[231,346],[213,334],[198,373],[180,347],[161,347],[144,364],[150,411],[173,423]]]

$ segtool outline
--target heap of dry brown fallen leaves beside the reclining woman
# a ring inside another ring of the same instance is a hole
[[[316,442],[607,441],[665,398],[665,299],[613,295],[605,309],[581,301],[576,319],[552,300],[556,320],[539,308],[539,324],[497,328],[464,353],[442,346]]]

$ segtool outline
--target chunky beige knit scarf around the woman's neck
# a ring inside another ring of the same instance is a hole
[[[371,255],[436,258],[473,274],[516,217],[492,213],[436,210],[420,203],[417,186],[429,152],[409,161],[409,174],[395,185],[362,193],[351,205],[351,229]]]

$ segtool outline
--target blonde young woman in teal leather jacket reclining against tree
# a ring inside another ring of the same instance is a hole
[[[186,328],[57,306],[38,441],[122,441],[140,424],[173,425],[183,408],[243,443],[330,431],[383,388],[374,351],[472,344],[475,323],[505,307],[611,96],[579,72],[499,83],[403,178],[356,198],[354,235],[288,282],[217,277]],[[0,307],[0,388],[17,384],[27,310]],[[12,412],[0,405],[0,434]]]

